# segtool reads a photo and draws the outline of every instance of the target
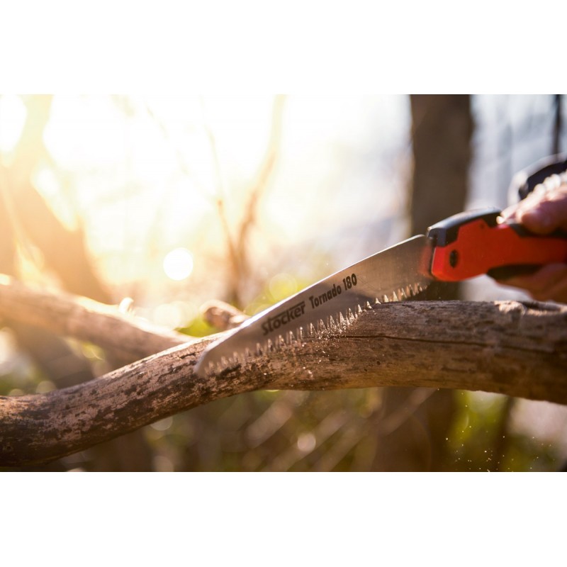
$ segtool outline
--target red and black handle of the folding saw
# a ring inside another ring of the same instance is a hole
[[[472,210],[430,227],[434,278],[461,281],[488,274],[507,279],[544,264],[567,263],[566,232],[534,235],[517,223],[499,224],[498,215],[498,209]]]

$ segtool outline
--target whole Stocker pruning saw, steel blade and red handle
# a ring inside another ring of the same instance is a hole
[[[499,222],[500,210],[472,210],[337,271],[246,320],[209,345],[196,365],[215,374],[274,349],[348,327],[365,310],[403,301],[433,281],[462,281],[481,274],[505,280],[544,264],[567,262],[567,234],[534,235],[520,224]]]

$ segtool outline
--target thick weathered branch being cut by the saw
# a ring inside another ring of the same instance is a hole
[[[567,403],[567,306],[383,304],[347,332],[199,378],[210,338],[46,394],[0,398],[0,465],[50,461],[230,395],[263,388],[457,388]]]

